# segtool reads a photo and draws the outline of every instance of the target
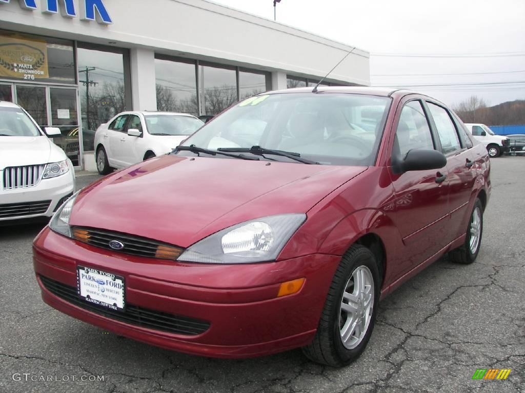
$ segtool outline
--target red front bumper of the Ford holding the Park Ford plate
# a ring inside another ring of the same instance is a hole
[[[35,239],[33,260],[44,301],[74,318],[179,352],[250,357],[286,351],[313,339],[340,257],[314,254],[246,265],[177,263],[92,247],[46,227]],[[44,285],[47,278],[76,288],[78,265],[123,276],[128,305],[206,321],[209,327],[195,335],[145,328],[86,310]],[[281,282],[302,277],[306,281],[298,293],[277,298]]]

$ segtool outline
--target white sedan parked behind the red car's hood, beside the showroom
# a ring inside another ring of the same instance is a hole
[[[113,168],[169,153],[203,125],[185,113],[119,113],[95,134],[97,170],[107,174]]]

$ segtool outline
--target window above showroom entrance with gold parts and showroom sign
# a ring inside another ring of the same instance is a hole
[[[75,84],[73,42],[0,30],[0,79]]]

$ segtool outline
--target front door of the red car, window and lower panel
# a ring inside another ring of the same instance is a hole
[[[412,149],[440,149],[421,99],[401,101],[394,125],[392,160],[403,159]],[[388,216],[405,245],[400,252],[402,260],[397,262],[405,270],[423,263],[445,245],[449,219],[447,175],[446,167],[404,173],[390,170],[395,199],[388,206]]]

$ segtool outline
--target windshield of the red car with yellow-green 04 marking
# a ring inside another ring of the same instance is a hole
[[[183,146],[212,150],[260,146],[298,153],[324,165],[369,166],[375,161],[390,103],[388,97],[346,93],[258,95],[216,117]]]

